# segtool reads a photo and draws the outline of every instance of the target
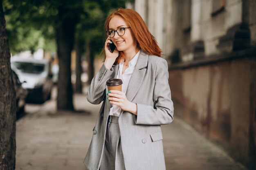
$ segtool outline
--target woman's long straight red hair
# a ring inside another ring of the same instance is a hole
[[[146,52],[149,55],[156,55],[158,57],[161,56],[162,50],[159,48],[155,37],[149,32],[148,26],[141,18],[139,13],[132,9],[115,9],[105,21],[105,29],[109,30],[109,22],[114,16],[120,16],[125,20],[128,24],[132,33],[134,35],[135,41],[137,42],[137,48]],[[107,35],[106,35],[107,36]],[[106,40],[106,39],[105,39]],[[103,49],[103,53],[104,53]],[[106,55],[104,56],[104,60],[106,59]],[[115,63],[119,63],[121,59],[124,59],[124,53],[122,51],[119,52],[119,56],[117,57]]]

